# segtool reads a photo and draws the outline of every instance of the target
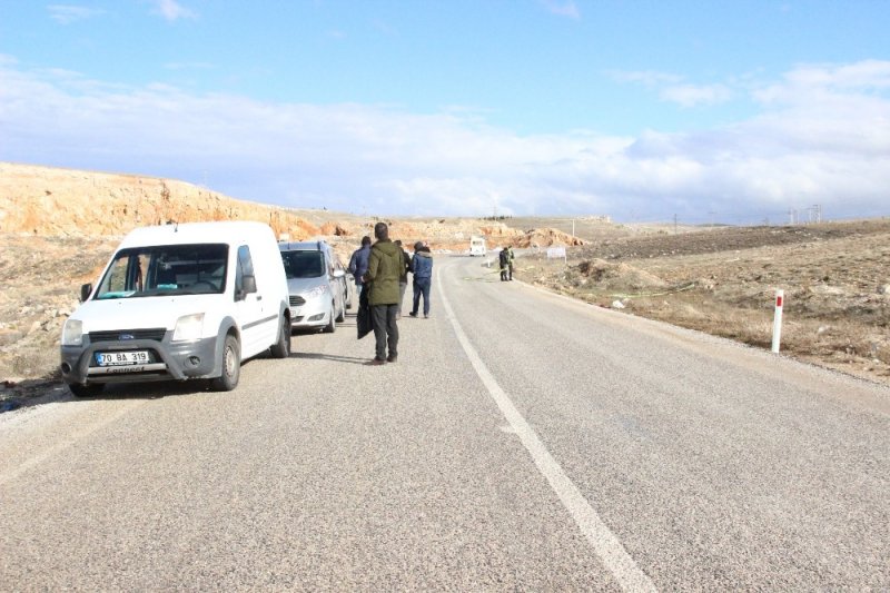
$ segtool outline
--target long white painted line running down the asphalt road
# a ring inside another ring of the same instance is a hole
[[[445,297],[445,290],[442,284],[442,268],[436,268],[436,284],[439,287],[438,296],[442,299],[442,307],[445,309],[445,315],[454,327],[454,333],[457,340],[463,346],[464,352],[469,358],[473,368],[482,379],[482,383],[488,389],[488,394],[494,399],[501,413],[510,423],[513,431],[520,437],[520,441],[525,446],[526,451],[532,455],[541,474],[547,478],[553,491],[560,497],[566,511],[575,520],[581,532],[587,538],[587,542],[593,546],[594,553],[600,557],[600,561],[612,573],[624,591],[657,591],[655,585],[649,576],[636,565],[634,560],[627,554],[622,543],[614,533],[603,523],[600,515],[594,511],[590,503],[581,494],[581,491],[570,480],[558,462],[553,458],[544,443],[528,425],[522,416],[516,406],[510,399],[510,396],[504,393],[504,389],[497,384],[492,373],[485,366],[485,363],[479,358],[478,353],[469,343],[466,334],[464,333],[457,317],[454,315],[451,303]]]

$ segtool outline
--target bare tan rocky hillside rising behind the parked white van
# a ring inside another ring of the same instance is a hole
[[[0,162],[0,233],[119,237],[140,226],[197,220],[259,220],[290,240],[325,237],[346,250],[379,218],[255,204],[172,179]],[[406,245],[423,240],[447,250],[465,249],[471,235],[484,235],[492,245],[518,245],[526,235],[491,220],[385,220]],[[543,244],[561,239],[568,240],[550,234]]]

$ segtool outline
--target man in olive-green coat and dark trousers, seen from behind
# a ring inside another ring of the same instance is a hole
[[[365,283],[369,283],[368,304],[370,317],[374,320],[375,356],[365,363],[368,365],[385,365],[398,359],[398,278],[405,266],[402,249],[389,240],[389,227],[386,223],[374,225],[374,237],[377,241],[370,247],[368,270]],[[389,356],[386,356],[386,347]]]

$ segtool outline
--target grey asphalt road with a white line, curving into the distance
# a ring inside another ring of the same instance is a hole
[[[396,364],[0,415],[0,590],[890,589],[890,391],[435,269]]]

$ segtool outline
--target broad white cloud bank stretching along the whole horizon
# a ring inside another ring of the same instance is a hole
[[[828,218],[888,215],[888,69],[800,67],[759,91],[756,117],[629,138],[520,136],[459,108],[122,87],[0,56],[0,159],[206,179],[243,199],[368,214],[488,215],[496,197],[501,213],[619,219],[752,223],[813,204]]]

